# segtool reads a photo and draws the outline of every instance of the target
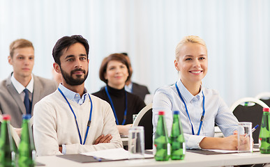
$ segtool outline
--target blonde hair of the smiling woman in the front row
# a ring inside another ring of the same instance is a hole
[[[177,48],[175,49],[175,58],[178,60],[179,58],[179,51],[181,49],[181,47],[186,44],[186,43],[195,43],[195,44],[200,44],[202,46],[204,46],[205,48],[207,48],[207,45],[205,44],[204,40],[202,40],[202,38],[195,36],[195,35],[188,35],[185,36],[177,45]]]

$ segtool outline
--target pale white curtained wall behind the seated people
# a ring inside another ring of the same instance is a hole
[[[174,49],[185,35],[207,42],[209,72],[203,84],[228,105],[270,91],[270,1],[267,0],[0,0],[0,79],[12,72],[10,42],[33,42],[33,73],[51,78],[52,47],[63,35],[90,43],[87,89],[103,86],[102,59],[128,52],[133,81],[156,88],[174,84]]]

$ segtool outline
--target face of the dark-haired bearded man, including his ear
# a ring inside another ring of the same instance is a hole
[[[89,60],[84,45],[77,42],[63,50],[60,57],[61,66],[54,63],[54,69],[61,72],[63,86],[78,86],[84,83],[88,75]]]

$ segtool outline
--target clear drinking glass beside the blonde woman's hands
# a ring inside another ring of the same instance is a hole
[[[253,152],[252,122],[239,122],[238,152]]]

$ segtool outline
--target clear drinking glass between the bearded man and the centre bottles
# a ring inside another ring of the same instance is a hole
[[[130,159],[144,158],[144,127],[130,127],[128,131]]]

